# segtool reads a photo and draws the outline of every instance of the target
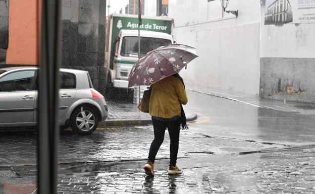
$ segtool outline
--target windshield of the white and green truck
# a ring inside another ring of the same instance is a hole
[[[151,50],[159,48],[160,46],[170,45],[171,43],[171,40],[163,38],[140,37],[140,57],[144,56]],[[138,37],[123,37],[120,55],[138,57]]]

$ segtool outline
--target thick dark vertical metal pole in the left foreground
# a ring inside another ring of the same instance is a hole
[[[57,193],[61,0],[41,0],[38,93],[38,190]]]

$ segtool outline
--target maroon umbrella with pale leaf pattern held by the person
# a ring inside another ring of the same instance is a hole
[[[182,44],[152,50],[134,64],[129,74],[128,87],[150,86],[187,68],[187,63],[196,57],[195,48]]]

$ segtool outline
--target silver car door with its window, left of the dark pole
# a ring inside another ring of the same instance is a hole
[[[0,78],[0,127],[33,122],[35,70],[21,70]]]

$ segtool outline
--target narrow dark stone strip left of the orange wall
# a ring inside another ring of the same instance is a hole
[[[0,63],[5,62],[9,39],[9,0],[0,0]]]

